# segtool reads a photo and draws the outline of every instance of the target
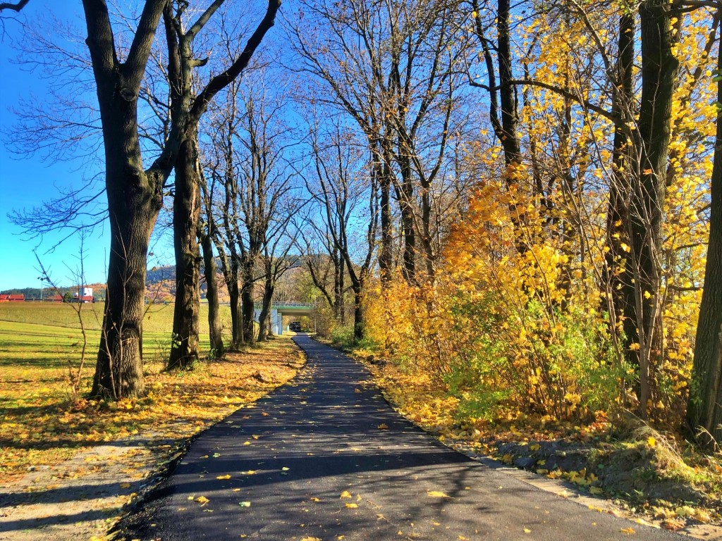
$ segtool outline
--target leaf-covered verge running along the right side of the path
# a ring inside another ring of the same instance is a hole
[[[722,524],[722,456],[705,456],[674,434],[660,434],[631,415],[587,424],[549,423],[524,415],[495,422],[470,418],[438,380],[341,333],[330,340],[363,361],[399,413],[466,452],[566,481],[607,498],[660,527]]]

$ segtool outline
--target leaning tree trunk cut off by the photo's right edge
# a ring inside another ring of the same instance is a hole
[[[717,67],[722,74],[722,56],[718,57]],[[717,101],[722,103],[722,81],[717,83]],[[722,118],[719,116],[710,184],[710,242],[687,423],[700,444],[716,450],[715,445],[722,445]]]

